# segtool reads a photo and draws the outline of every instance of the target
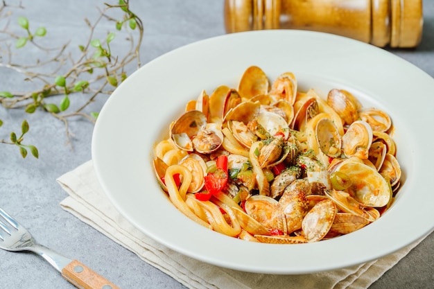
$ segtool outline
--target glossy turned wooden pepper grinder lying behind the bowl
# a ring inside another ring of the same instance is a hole
[[[227,33],[316,30],[411,48],[422,39],[422,26],[422,0],[225,0]]]

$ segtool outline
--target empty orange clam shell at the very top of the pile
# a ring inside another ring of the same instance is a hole
[[[241,76],[238,84],[238,92],[242,98],[250,99],[259,94],[267,94],[270,82],[266,73],[256,66],[249,67]]]

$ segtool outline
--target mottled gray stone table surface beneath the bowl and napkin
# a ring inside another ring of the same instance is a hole
[[[14,5],[20,3],[6,2]],[[85,25],[85,17],[90,21],[96,19],[99,14],[97,7],[102,8],[104,2],[23,0],[21,5],[24,9],[13,9],[9,27],[16,27],[17,17],[24,15],[28,17],[32,29],[38,26],[46,27],[46,37],[51,35],[50,46],[69,40],[71,47],[77,47],[87,39],[89,28]],[[107,2],[117,3],[110,0]],[[131,2],[132,10],[141,17],[145,27],[141,46],[142,64],[185,44],[225,34],[223,0]],[[3,16],[0,19],[1,29],[7,25]],[[107,30],[114,30],[112,24],[99,29],[96,35],[105,35]],[[17,32],[22,35],[21,30],[17,29]],[[0,61],[4,64],[7,62],[7,46],[4,40],[7,35],[3,34],[0,38]],[[433,0],[424,1],[424,37],[417,49],[388,50],[434,76]],[[21,53],[21,60],[24,62],[35,60],[36,57],[33,50]],[[129,69],[128,73],[134,70],[131,67]],[[408,81],[411,82],[411,78]],[[12,69],[5,68],[4,65],[0,67],[0,91],[23,91],[31,85],[24,80],[24,76]],[[434,91],[426,93],[434,94]],[[97,97],[85,112],[98,111],[106,99],[105,96]],[[60,98],[56,101],[60,101]],[[411,103],[410,97],[397,101],[408,101],[409,105],[423,105]],[[15,146],[0,143],[0,207],[31,229],[40,243],[83,261],[121,288],[184,288],[182,284],[141,261],[132,252],[60,207],[60,202],[67,197],[67,193],[55,179],[91,159],[94,128],[91,122],[80,118],[70,119],[69,131],[72,135],[70,143],[67,143],[64,123],[43,112],[26,114],[23,110],[7,110],[0,106],[0,119],[4,123],[0,127],[0,140],[8,140],[11,131],[19,132],[21,121],[27,119],[31,130],[26,134],[25,142],[34,144],[40,152],[39,159],[30,154],[23,159]],[[373,283],[370,289],[434,288],[433,256],[434,234],[431,234]],[[73,286],[35,254],[14,254],[0,250],[0,288],[66,289]]]

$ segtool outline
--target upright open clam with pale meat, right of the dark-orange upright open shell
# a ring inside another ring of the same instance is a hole
[[[354,121],[342,137],[342,150],[347,157],[367,159],[372,144],[372,129],[365,121]]]

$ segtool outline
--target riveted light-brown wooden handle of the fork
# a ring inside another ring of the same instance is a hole
[[[120,289],[77,260],[71,261],[62,269],[62,276],[80,289]]]

